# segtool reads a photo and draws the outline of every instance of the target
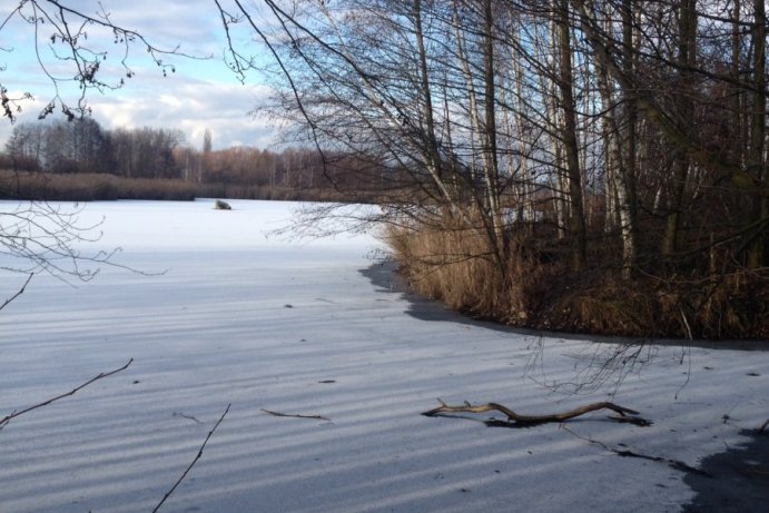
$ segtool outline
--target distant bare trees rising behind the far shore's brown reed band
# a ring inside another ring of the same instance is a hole
[[[238,146],[214,150],[211,138],[206,130],[203,147],[196,149],[174,129],[105,130],[90,117],[23,122],[13,127],[0,154],[0,168],[290,189],[332,189],[347,179],[339,166],[324,166],[312,149]]]

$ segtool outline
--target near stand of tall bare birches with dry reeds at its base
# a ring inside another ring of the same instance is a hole
[[[265,3],[272,30],[223,10],[228,38],[274,56],[297,140],[393,177],[372,220],[417,290],[522,326],[769,337],[763,0]]]

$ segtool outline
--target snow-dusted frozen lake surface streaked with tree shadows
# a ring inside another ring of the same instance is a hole
[[[88,204],[103,236],[83,249],[119,246],[144,274],[39,275],[0,312],[0,417],[134,358],[0,431],[0,512],[149,512],[230,403],[161,511],[676,512],[696,495],[686,473],[605,447],[698,466],[769,416],[765,351],[654,346],[619,387],[570,394],[615,344],[467,320],[369,279],[387,276],[372,235],[292,240],[273,231],[297,204]],[[21,283],[0,275],[0,298]],[[653,425],[420,415],[437,397],[522,414],[613,401]]]

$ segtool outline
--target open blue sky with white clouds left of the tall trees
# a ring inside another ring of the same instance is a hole
[[[0,7],[0,24],[7,20],[18,0],[6,0]],[[56,8],[45,0],[38,1],[50,12]],[[162,76],[141,45],[135,45],[128,63],[136,73],[127,79],[122,88],[100,93],[91,90],[88,103],[93,118],[103,128],[175,128],[180,129],[187,145],[200,147],[203,134],[210,129],[214,148],[221,149],[235,145],[270,147],[276,139],[277,129],[269,119],[249,115],[268,95],[263,78],[253,73],[245,83],[226,67],[224,62],[225,32],[214,0],[61,0],[61,3],[93,16],[99,3],[110,14],[110,19],[124,28],[137,30],[154,46],[174,49],[207,59],[167,57],[176,72]],[[223,6],[227,1],[220,0]],[[255,4],[258,2],[244,2]],[[31,14],[28,3],[23,12]],[[259,20],[258,12],[256,19]],[[114,45],[110,32],[89,27],[88,45],[97,50],[108,51],[101,68],[101,79],[117,82],[126,76],[119,66],[124,48]],[[37,122],[40,110],[56,96],[56,89],[46,77],[36,55],[36,37],[40,60],[46,69],[57,77],[72,77],[73,68],[51,53],[50,38],[53,33],[50,23],[34,26],[24,22],[19,14],[11,17],[0,27],[0,83],[9,96],[31,92],[33,101],[21,106],[23,112],[17,122]],[[253,34],[241,33],[237,43],[249,55],[262,59],[260,48],[250,42]],[[61,45],[59,45],[61,48]],[[61,97],[70,105],[77,103],[77,89],[60,86]],[[57,110],[58,114],[58,110]],[[60,116],[60,115],[59,115]],[[4,145],[12,130],[7,118],[0,120],[0,145]]]

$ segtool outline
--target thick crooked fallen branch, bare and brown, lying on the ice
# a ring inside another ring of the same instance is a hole
[[[584,415],[585,413],[590,412],[595,412],[598,410],[611,410],[613,412],[617,412],[619,416],[617,417],[609,417],[618,422],[630,422],[632,424],[637,425],[649,425],[651,424],[649,421],[645,421],[640,417],[635,416],[628,416],[630,415],[638,415],[638,412],[634,410],[625,408],[624,406],[619,406],[614,403],[593,403],[593,404],[588,404],[585,406],[580,406],[578,408],[571,410],[569,412],[564,413],[554,413],[550,415],[520,415],[512,410],[510,410],[507,406],[504,406],[502,404],[497,403],[486,403],[486,404],[480,404],[476,406],[473,406],[472,404],[465,402],[464,405],[462,406],[450,406],[446,403],[443,402],[443,399],[438,399],[438,403],[441,403],[441,406],[431,410],[428,412],[423,412],[422,415],[426,416],[435,416],[435,415],[442,415],[446,413],[485,413],[485,412],[492,412],[496,411],[500,413],[503,413],[504,415],[507,416],[509,421],[514,422],[515,424],[544,424],[548,422],[564,422],[570,418],[578,417],[580,415]]]

